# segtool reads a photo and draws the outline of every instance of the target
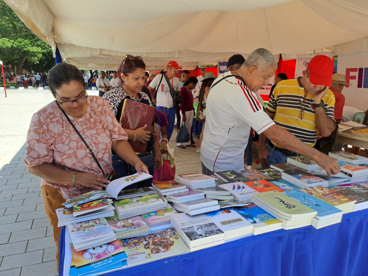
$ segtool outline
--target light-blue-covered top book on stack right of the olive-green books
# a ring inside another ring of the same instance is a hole
[[[322,201],[321,199],[318,199],[316,197],[313,197],[312,195],[309,195],[305,192],[302,192],[301,190],[294,190],[285,192],[285,194],[296,201],[300,202],[301,204],[304,204],[305,206],[308,206],[309,208],[317,211],[317,218],[330,216],[330,215],[342,215],[343,211],[337,209],[336,207],[328,204],[327,202]]]

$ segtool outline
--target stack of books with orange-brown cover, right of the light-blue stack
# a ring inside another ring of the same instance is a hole
[[[335,206],[337,209],[342,210],[344,213],[349,213],[354,211],[354,204],[357,202],[354,199],[348,198],[339,192],[330,190],[329,188],[322,186],[315,186],[312,188],[304,188],[301,191],[306,192],[328,204]]]

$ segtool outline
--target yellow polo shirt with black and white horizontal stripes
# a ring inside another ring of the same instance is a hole
[[[266,108],[269,112],[275,113],[273,120],[277,125],[289,130],[305,144],[314,146],[317,139],[315,109],[312,106],[314,95],[307,95],[305,107],[304,103],[301,105],[301,100],[304,100],[304,88],[300,86],[298,79],[287,79],[276,85]],[[327,91],[323,96],[323,102],[327,116],[335,121],[335,97],[332,91]],[[303,107],[304,117],[300,119],[299,112]]]

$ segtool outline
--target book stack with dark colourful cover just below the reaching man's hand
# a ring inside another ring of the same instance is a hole
[[[321,177],[307,173],[305,170],[289,170],[281,172],[282,179],[292,184],[297,185],[300,188],[309,188],[316,185],[323,187],[328,186],[328,181]]]

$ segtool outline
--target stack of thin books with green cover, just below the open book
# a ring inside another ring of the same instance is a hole
[[[114,201],[115,213],[119,219],[142,215],[150,210],[166,208],[166,199],[158,194],[144,195],[142,197],[124,198]]]

